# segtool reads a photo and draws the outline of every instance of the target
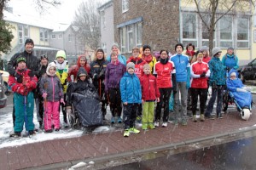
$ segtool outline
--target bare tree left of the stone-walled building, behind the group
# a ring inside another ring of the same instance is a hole
[[[100,44],[100,14],[97,8],[102,1],[88,0],[79,5],[75,13],[73,25],[79,28],[77,37],[85,47],[96,49]]]

